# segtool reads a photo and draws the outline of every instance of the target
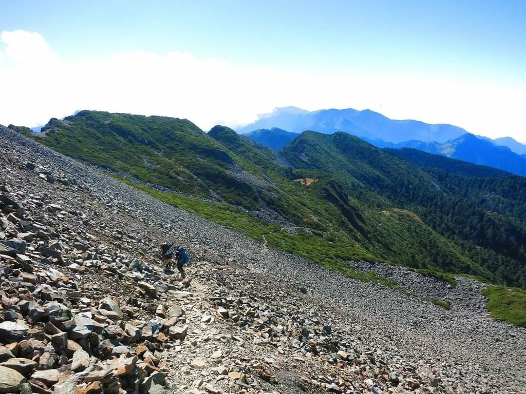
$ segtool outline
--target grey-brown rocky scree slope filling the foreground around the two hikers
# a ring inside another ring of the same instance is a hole
[[[183,245],[186,279],[160,244]],[[526,393],[484,284],[359,282],[0,127],[0,393]],[[437,298],[450,309],[435,305]]]

